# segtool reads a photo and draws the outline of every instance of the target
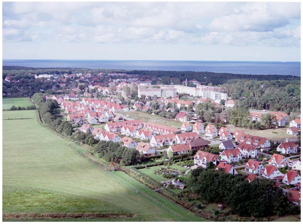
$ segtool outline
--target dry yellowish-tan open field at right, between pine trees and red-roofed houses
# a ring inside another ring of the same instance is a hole
[[[266,137],[269,140],[272,141],[282,141],[285,138],[289,139],[298,139],[297,136],[295,135],[288,135],[286,134],[286,128],[271,128],[271,129],[266,129],[266,130],[250,130],[246,128],[239,128],[235,127],[234,125],[226,125],[231,132],[237,131],[237,130],[244,130],[245,134],[250,134],[250,135],[257,135],[260,137]],[[274,133],[277,132],[277,133]]]

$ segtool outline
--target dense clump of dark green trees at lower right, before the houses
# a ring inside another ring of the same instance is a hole
[[[232,175],[214,169],[198,167],[191,170],[187,181],[190,190],[206,202],[223,202],[239,216],[268,217],[299,214],[300,208],[288,203],[287,195],[275,186],[275,181]]]

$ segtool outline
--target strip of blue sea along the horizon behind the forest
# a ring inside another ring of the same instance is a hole
[[[300,62],[169,60],[2,60],[3,65],[36,68],[102,68],[301,76]]]

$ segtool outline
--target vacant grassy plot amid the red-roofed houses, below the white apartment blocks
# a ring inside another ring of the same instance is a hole
[[[124,116],[129,118],[133,118],[135,120],[142,120],[143,122],[154,122],[156,124],[167,125],[170,127],[181,128],[182,123],[175,121],[173,119],[162,118],[158,115],[151,115],[140,111],[122,111],[118,112]]]

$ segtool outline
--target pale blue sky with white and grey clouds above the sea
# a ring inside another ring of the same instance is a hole
[[[300,61],[298,2],[3,2],[3,59]]]

